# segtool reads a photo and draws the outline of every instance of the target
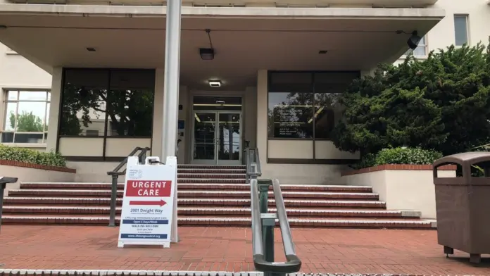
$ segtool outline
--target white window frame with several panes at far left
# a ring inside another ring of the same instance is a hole
[[[8,92],[17,92],[17,99],[15,99],[15,100],[8,99]],[[46,95],[46,97],[44,98],[44,101],[43,100],[21,100],[21,99],[19,99],[20,98],[20,92],[43,92]],[[46,122],[49,122],[46,119],[49,119],[48,109],[51,110],[51,95],[50,95],[51,89],[8,88],[8,89],[2,89],[1,93],[2,93],[2,96],[4,96],[4,99],[2,101],[2,104],[4,106],[4,112],[3,112],[4,118],[3,118],[2,125],[1,125],[0,134],[3,134],[3,133],[12,133],[13,134],[13,139],[12,139],[13,142],[3,142],[3,141],[1,141],[1,136],[0,136],[1,144],[15,144],[15,145],[18,144],[19,146],[20,145],[39,145],[39,147],[46,146],[47,139],[48,139],[47,138],[48,130],[46,130]],[[20,131],[16,130],[17,125],[15,125],[15,127],[12,131],[5,130],[6,125],[8,124],[7,120],[9,120],[8,113],[7,113],[8,112],[8,108],[7,108],[8,103],[16,103],[16,105],[15,105],[15,118],[17,118],[18,113],[19,113],[19,104],[23,103],[23,102],[44,103],[44,120],[43,120],[43,126],[42,126],[43,131],[42,132],[20,132]],[[49,108],[48,108],[48,104],[49,104]],[[48,123],[48,125],[49,125],[49,123]],[[15,142],[15,134],[42,134],[42,142],[41,143]]]

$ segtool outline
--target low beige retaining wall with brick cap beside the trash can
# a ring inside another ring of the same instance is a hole
[[[439,177],[456,177],[456,165],[438,168]],[[389,210],[414,210],[436,218],[432,165],[378,165],[341,173],[348,185],[368,185]]]

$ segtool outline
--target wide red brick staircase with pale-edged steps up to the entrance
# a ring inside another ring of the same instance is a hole
[[[251,225],[242,165],[179,165],[180,226]],[[281,185],[291,227],[432,228],[417,211],[387,211],[371,187]],[[117,215],[124,184],[118,184]],[[272,188],[270,190],[272,196]],[[108,225],[109,183],[22,183],[4,199],[4,224]],[[271,212],[275,201],[269,199]],[[119,222],[119,218],[116,220]]]

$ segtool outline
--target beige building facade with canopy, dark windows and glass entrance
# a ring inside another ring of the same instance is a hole
[[[60,151],[77,181],[160,155],[165,1],[1,1],[2,143]],[[329,140],[334,95],[413,31],[419,58],[490,35],[484,0],[183,2],[179,162],[241,164],[249,143],[285,184],[338,184],[359,155]]]

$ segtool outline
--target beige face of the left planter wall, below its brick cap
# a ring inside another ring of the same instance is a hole
[[[8,196],[8,190],[10,189],[19,189],[20,182],[73,182],[73,180],[75,180],[75,173],[73,172],[38,170],[33,168],[14,167],[11,165],[0,165],[0,175],[18,177],[17,182],[7,184],[4,196]]]

